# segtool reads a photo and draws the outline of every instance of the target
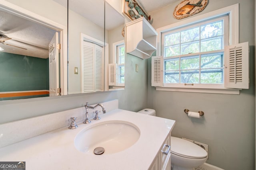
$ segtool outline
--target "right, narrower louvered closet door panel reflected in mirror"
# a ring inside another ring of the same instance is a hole
[[[95,91],[103,91],[103,47],[95,46]]]

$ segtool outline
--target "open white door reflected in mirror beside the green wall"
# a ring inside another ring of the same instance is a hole
[[[59,88],[59,36],[58,32],[49,44],[49,91],[50,96],[58,96]]]

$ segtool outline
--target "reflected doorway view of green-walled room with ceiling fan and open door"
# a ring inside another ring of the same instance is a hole
[[[49,22],[14,4],[0,5],[0,100],[60,94],[63,28]]]

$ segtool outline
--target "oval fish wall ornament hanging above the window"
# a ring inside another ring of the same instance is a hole
[[[208,0],[184,0],[178,4],[173,12],[174,18],[180,20],[204,10]]]

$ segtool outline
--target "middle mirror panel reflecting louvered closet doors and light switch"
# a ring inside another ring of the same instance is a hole
[[[104,0],[68,1],[68,94],[104,90]]]

